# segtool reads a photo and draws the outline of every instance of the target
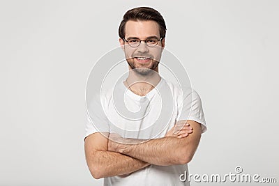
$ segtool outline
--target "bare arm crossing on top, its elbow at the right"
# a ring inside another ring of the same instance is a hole
[[[135,157],[138,160],[156,165],[186,164],[192,160],[201,137],[201,124],[195,121],[183,121],[190,124],[193,132],[188,137],[163,137],[151,139],[140,144],[109,144],[116,153]]]

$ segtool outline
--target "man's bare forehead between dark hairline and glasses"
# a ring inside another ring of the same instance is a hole
[[[155,21],[132,21],[126,22],[125,26],[126,38],[137,37],[145,39],[149,36],[157,36],[160,38],[159,25]]]

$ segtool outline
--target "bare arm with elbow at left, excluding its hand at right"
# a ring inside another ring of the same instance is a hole
[[[122,176],[149,165],[128,155],[107,151],[107,140],[100,132],[90,134],[84,140],[86,162],[93,178]]]

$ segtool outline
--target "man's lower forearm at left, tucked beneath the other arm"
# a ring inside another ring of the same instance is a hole
[[[98,150],[93,153],[89,167],[94,178],[104,178],[132,173],[148,165],[149,163],[127,155]]]

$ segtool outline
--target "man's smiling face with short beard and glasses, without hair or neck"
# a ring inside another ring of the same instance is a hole
[[[125,39],[160,39],[160,30],[157,22],[154,21],[128,21],[125,26]],[[165,39],[159,40],[154,47],[149,47],[144,41],[140,42],[138,47],[130,47],[128,42],[119,39],[121,46],[124,49],[126,60],[129,68],[140,75],[149,75],[153,72],[158,72],[158,63],[160,61],[163,47],[165,47]]]

